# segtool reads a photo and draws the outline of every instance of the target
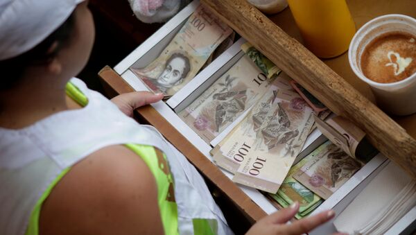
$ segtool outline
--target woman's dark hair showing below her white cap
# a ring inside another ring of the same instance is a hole
[[[42,65],[51,62],[59,51],[64,46],[67,46],[74,25],[75,19],[72,13],[58,29],[46,37],[43,42],[37,44],[33,49],[18,55],[15,58],[0,61],[0,90],[10,89],[13,85],[16,85],[17,81],[23,75],[24,70],[29,65]],[[49,51],[55,42],[57,42],[58,45],[53,51]]]

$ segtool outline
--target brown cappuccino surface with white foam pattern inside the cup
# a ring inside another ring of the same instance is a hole
[[[361,70],[374,82],[398,82],[416,73],[416,37],[392,32],[374,38],[361,55]]]

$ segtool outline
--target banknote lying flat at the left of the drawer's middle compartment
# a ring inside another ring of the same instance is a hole
[[[243,55],[178,116],[209,143],[245,110],[257,103],[273,78]]]

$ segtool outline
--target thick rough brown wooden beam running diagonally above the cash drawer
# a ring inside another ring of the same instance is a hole
[[[416,178],[416,140],[352,85],[247,1],[201,1],[329,109],[356,123],[381,153]]]

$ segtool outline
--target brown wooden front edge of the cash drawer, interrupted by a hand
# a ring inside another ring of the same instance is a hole
[[[112,94],[122,94],[126,92],[134,92],[134,89],[128,85],[110,67],[103,68],[98,76],[103,81],[104,87]],[[163,116],[157,112],[152,106],[146,105],[137,109],[137,112],[142,119],[148,121],[150,125],[153,125],[163,136],[170,141],[173,146],[177,148],[183,155],[187,157],[189,162],[196,166],[200,173],[220,190],[229,201],[233,201],[246,218],[250,220],[251,224],[254,224],[260,218],[266,216],[264,212],[257,204],[255,204],[234,182],[229,180],[217,166],[202,155],[200,151],[193,146],[189,141],[178,132],[173,125],[171,125]]]

